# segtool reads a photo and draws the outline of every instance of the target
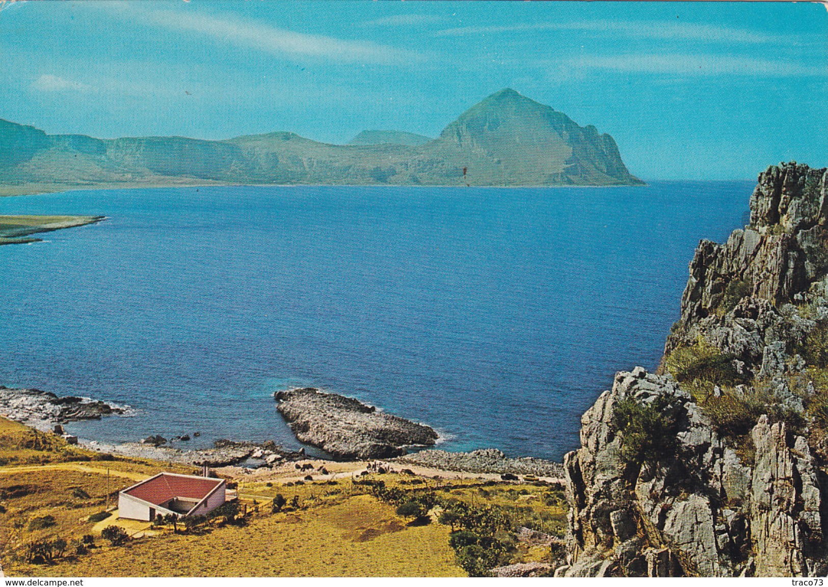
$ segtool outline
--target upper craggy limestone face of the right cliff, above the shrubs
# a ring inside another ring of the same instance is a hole
[[[696,248],[666,353],[702,335],[755,375],[767,346],[802,342],[814,323],[797,316],[792,303],[815,302],[828,291],[826,182],[828,169],[795,163],[759,174],[749,226],[722,245],[701,241]],[[763,375],[779,367],[768,362]]]

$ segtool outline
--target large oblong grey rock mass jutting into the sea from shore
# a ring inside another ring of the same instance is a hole
[[[335,459],[384,459],[406,446],[431,446],[437,433],[424,424],[378,412],[354,398],[304,388],[277,392],[278,410],[302,442]]]

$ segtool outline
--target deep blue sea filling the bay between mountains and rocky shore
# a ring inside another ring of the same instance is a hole
[[[135,408],[70,432],[299,446],[277,389],[435,427],[441,447],[560,459],[580,415],[655,369],[702,238],[753,182],[475,189],[201,187],[0,198],[104,215],[0,247],[0,384]]]

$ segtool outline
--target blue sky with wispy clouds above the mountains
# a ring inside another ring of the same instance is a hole
[[[2,2],[0,2],[2,3]],[[501,88],[643,179],[828,165],[828,11],[777,2],[6,2],[0,118],[50,133],[437,136]]]

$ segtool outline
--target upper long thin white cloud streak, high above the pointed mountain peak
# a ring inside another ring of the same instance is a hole
[[[529,22],[508,26],[463,26],[437,31],[436,36],[498,34],[520,31],[596,31],[615,32],[644,39],[727,41],[738,43],[769,43],[784,41],[781,35],[674,21],[580,21]]]

